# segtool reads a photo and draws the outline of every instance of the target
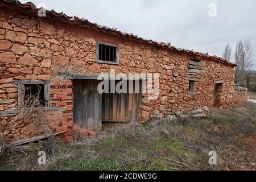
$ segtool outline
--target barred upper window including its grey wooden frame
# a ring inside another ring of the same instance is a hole
[[[118,64],[118,46],[108,43],[97,43],[97,63]]]

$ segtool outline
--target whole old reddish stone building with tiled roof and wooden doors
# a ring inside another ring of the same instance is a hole
[[[220,57],[53,10],[40,13],[32,3],[0,1],[0,133],[9,140],[44,134],[24,114],[24,102],[35,93],[43,121],[66,141],[72,140],[73,123],[100,130],[102,121],[143,122],[151,115],[234,105],[246,98],[245,90],[234,87],[236,65]],[[115,74],[158,73],[158,97],[98,93],[97,75],[111,69]]]

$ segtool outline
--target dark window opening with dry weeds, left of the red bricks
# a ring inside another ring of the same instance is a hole
[[[28,102],[28,106],[32,105],[32,101],[38,98],[41,106],[45,106],[44,85],[24,85],[24,102]]]

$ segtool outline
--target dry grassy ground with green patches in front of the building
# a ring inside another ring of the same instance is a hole
[[[132,122],[93,139],[77,135],[72,143],[49,139],[32,144],[26,154],[6,151],[0,169],[255,170],[255,110],[246,103],[210,110],[199,120]],[[40,150],[47,152],[46,166],[37,164]],[[217,166],[208,164],[209,151],[217,152]]]

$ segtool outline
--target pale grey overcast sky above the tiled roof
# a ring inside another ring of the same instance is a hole
[[[30,0],[47,10],[86,18],[173,46],[221,56],[227,43],[250,39],[256,55],[255,0]],[[27,2],[21,0],[21,2]],[[217,16],[209,16],[209,4]],[[232,52],[233,55],[233,52]],[[254,61],[256,69],[256,60]]]

